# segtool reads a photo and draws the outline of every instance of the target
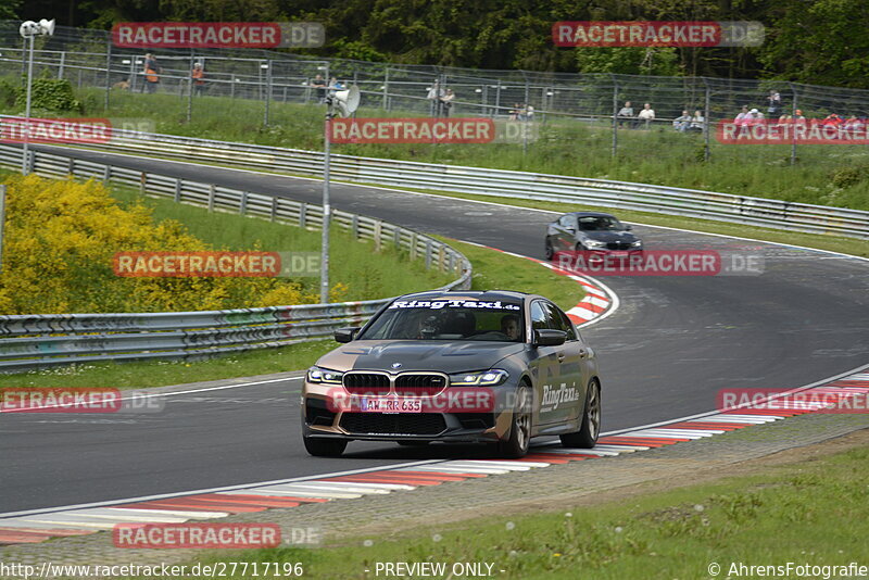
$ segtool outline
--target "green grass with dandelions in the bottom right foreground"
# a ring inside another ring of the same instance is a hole
[[[740,562],[866,565],[867,478],[869,447],[858,447],[592,506],[553,505],[540,515],[424,525],[332,540],[318,550],[249,551],[201,562],[301,562],[305,576],[318,579],[377,578],[378,562],[483,562],[494,565],[498,578],[571,580],[711,578],[711,563],[721,566],[720,578],[747,577],[728,575]]]

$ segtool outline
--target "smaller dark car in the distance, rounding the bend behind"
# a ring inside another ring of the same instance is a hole
[[[599,212],[564,214],[546,228],[546,259],[558,252],[632,253],[642,252],[643,242],[631,227],[615,216]]]

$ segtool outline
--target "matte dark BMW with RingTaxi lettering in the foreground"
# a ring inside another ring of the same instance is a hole
[[[594,351],[543,297],[423,292],[395,299],[307,371],[302,431],[312,455],[349,441],[495,443],[520,457],[530,438],[592,447],[601,426]]]

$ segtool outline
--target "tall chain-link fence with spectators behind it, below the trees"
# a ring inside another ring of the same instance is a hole
[[[26,52],[17,22],[0,23],[0,75],[23,74]],[[717,139],[716,124],[756,110],[767,122],[791,117],[843,119],[869,117],[869,90],[831,88],[779,80],[707,77],[656,77],[567,74],[529,71],[483,71],[430,65],[400,65],[342,59],[313,59],[255,49],[161,49],[159,83],[149,83],[143,51],[112,47],[104,30],[58,27],[37,40],[36,75],[66,78],[79,88],[104,91],[111,110],[121,91],[175,94],[187,102],[188,121],[205,111],[207,99],[260,101],[268,125],[270,108],[281,103],[317,103],[319,75],[358,85],[365,115],[374,113],[517,118],[542,123],[542,135],[564,144],[565,152],[588,152],[596,159],[670,160],[687,164],[730,159],[758,167],[820,162],[826,144],[776,142],[729,147]],[[194,65],[203,77],[194,79]],[[431,97],[451,90],[451,105]],[[778,93],[770,101],[770,94]],[[628,104],[630,103],[630,104]],[[642,113],[648,103],[653,114]],[[744,108],[744,109],[743,109]],[[819,149],[820,148],[820,149]],[[569,150],[569,151],[568,151]],[[836,155],[867,154],[865,144],[839,144]],[[582,163],[584,155],[577,157]],[[593,172],[594,168],[592,167]]]

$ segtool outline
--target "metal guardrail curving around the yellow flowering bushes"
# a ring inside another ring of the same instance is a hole
[[[176,202],[319,228],[323,209],[282,198],[156,174],[33,152],[34,173],[48,177],[97,178],[139,188]],[[21,149],[0,144],[0,165],[18,167]],[[433,238],[369,217],[332,211],[332,220],[356,239],[374,240],[425,259],[427,267],[455,272],[443,289],[470,287],[470,262]],[[147,358],[194,358],[215,353],[281,346],[327,337],[358,325],[392,299],[203,312],[47,314],[0,316],[0,371],[70,363]]]

